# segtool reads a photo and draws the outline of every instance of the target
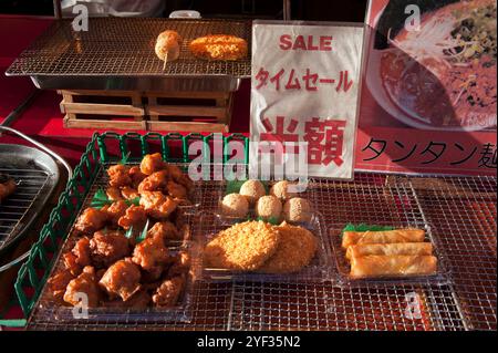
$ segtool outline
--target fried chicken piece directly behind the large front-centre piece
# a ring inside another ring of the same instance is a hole
[[[95,232],[90,240],[90,249],[92,251],[92,261],[98,268],[108,267],[117,260],[127,257],[131,252],[128,238],[118,230]]]

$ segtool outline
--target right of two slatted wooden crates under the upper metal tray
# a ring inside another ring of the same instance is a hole
[[[151,131],[224,133],[229,131],[232,94],[228,92],[147,92]]]

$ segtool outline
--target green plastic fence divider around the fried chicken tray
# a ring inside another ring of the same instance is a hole
[[[27,324],[27,320],[41,294],[52,267],[54,266],[56,259],[55,255],[60,250],[60,245],[68,237],[70,226],[74,222],[103,164],[117,163],[128,158],[128,154],[131,153],[128,149],[128,142],[131,141],[141,143],[141,155],[137,156],[136,159],[141,159],[149,153],[151,143],[158,143],[164,160],[168,163],[188,163],[191,160],[188,155],[189,144],[194,141],[201,141],[205,144],[203,149],[206,152],[209,141],[212,138],[214,134],[207,136],[200,134],[183,136],[177,133],[167,135],[149,133],[143,136],[135,133],[126,133],[124,135],[116,133],[94,134],[81,157],[80,164],[74,168],[73,178],[68,183],[66,189],[61,194],[58,206],[52,210],[48,224],[43,226],[40,232],[39,240],[31,248],[32,251],[30,257],[18,271],[18,277],[13,285],[15,298],[10,307],[21,307],[24,318],[12,320],[4,319],[3,315],[8,312],[8,310],[6,310],[0,313],[0,325],[22,328]],[[248,164],[249,139],[240,134],[234,134],[222,138],[224,163],[228,162],[229,156],[226,155],[228,153],[227,146],[231,141],[241,141],[245,144],[245,160],[241,162]],[[110,142],[118,143],[121,155],[111,155],[107,148]],[[169,147],[169,143],[172,142],[180,144],[181,155],[178,158],[175,158],[172,155]],[[49,260],[50,253],[54,253],[51,260]]]

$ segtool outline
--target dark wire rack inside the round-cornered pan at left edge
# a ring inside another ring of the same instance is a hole
[[[0,205],[0,249],[21,231],[25,216],[44,189],[49,180],[49,173],[37,169],[0,168],[18,184],[15,193],[6,198]]]

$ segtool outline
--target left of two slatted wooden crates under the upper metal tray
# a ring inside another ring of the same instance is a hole
[[[146,129],[139,92],[60,91],[64,127]]]

